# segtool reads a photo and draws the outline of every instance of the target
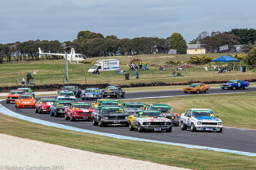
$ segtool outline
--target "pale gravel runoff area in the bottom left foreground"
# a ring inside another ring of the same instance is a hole
[[[0,134],[0,143],[0,169],[185,169],[5,134]]]

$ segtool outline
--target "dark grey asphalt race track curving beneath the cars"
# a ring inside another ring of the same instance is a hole
[[[212,88],[209,90],[208,94],[215,93],[240,93],[240,92],[256,92],[256,86],[248,87],[248,89],[237,89],[237,90],[222,90],[220,88]],[[204,93],[200,93],[204,94]],[[191,95],[185,94],[182,90],[163,90],[163,91],[141,91],[141,92],[128,92],[125,93],[124,99],[131,98],[152,98],[152,97],[163,97],[163,96],[180,96],[180,95]],[[192,94],[194,95],[194,94]],[[52,96],[53,97],[53,96]],[[56,96],[55,96],[56,97]],[[36,97],[36,100],[41,97]],[[123,98],[119,98],[123,99]],[[89,102],[92,103],[93,100],[82,100],[77,98],[78,102]],[[131,100],[132,102],[132,100]],[[180,126],[173,127],[171,133],[166,133],[165,131],[160,132],[144,132],[138,133],[137,131],[129,131],[128,127],[124,126],[93,126],[92,121],[86,120],[76,120],[75,122],[66,121],[64,117],[51,117],[49,114],[38,114],[35,113],[35,109],[21,109],[15,108],[14,104],[6,104],[5,100],[1,101],[1,104],[13,112],[33,117],[36,119],[41,119],[49,122],[54,122],[58,124],[63,124],[67,126],[94,130],[103,133],[111,133],[117,135],[124,135],[136,138],[183,143],[188,145],[198,145],[213,148],[229,149],[243,152],[256,153],[256,130],[246,130],[237,128],[226,128],[223,127],[222,133],[211,132],[190,132],[190,129],[182,131]],[[146,103],[149,104],[149,103]],[[188,109],[188,108],[186,108]],[[181,114],[181,113],[179,113]],[[219,117],[221,119],[221,117]],[[225,126],[225,123],[224,123]],[[131,141],[132,142],[132,141]]]

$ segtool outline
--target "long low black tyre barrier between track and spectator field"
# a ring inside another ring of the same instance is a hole
[[[243,80],[246,82],[256,82],[256,79]],[[178,83],[165,83],[165,82],[152,82],[152,83],[131,83],[131,84],[118,84],[116,86],[121,88],[130,88],[130,87],[152,87],[152,86],[186,86],[192,83],[204,83],[204,84],[221,84],[227,83],[228,81],[189,81],[189,82],[178,82]],[[33,91],[57,91],[62,89],[64,86],[78,86],[80,89],[86,88],[106,88],[110,86],[109,83],[100,83],[100,84],[44,84],[44,85],[35,85],[35,86],[4,86],[0,87],[0,93],[8,93],[10,90],[16,90],[21,87],[28,87],[33,89]]]

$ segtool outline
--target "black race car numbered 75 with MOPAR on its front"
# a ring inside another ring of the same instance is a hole
[[[125,125],[128,126],[128,113],[124,112],[121,106],[100,106],[92,112],[92,124],[100,127],[104,125]]]

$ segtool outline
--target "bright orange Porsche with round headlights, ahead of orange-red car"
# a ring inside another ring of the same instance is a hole
[[[30,94],[21,94],[19,98],[15,100],[16,108],[34,108],[36,100],[33,95]]]

